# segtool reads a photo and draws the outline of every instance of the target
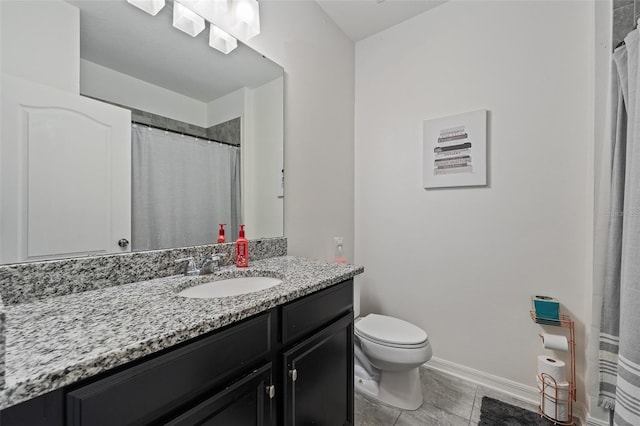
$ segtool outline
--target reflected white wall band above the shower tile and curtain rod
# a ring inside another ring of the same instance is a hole
[[[80,93],[159,114],[174,120],[207,126],[207,104],[111,68],[81,59]]]

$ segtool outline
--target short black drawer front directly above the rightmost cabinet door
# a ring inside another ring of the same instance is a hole
[[[353,280],[282,306],[281,339],[287,344],[317,330],[353,309]]]

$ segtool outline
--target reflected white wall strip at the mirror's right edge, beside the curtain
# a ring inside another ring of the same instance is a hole
[[[284,81],[275,79],[250,91],[248,124],[243,138],[244,220],[251,224],[247,235],[284,235],[284,203],[280,197],[283,164],[282,127]],[[245,129],[247,126],[243,126]]]

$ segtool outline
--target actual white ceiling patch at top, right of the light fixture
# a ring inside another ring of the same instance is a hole
[[[426,12],[446,0],[316,0],[353,41]]]

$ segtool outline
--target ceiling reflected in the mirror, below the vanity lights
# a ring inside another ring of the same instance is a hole
[[[83,59],[193,99],[210,102],[283,75],[242,43],[228,55],[212,49],[208,28],[196,37],[173,28],[172,2],[156,16],[124,0],[67,2],[80,9]]]

